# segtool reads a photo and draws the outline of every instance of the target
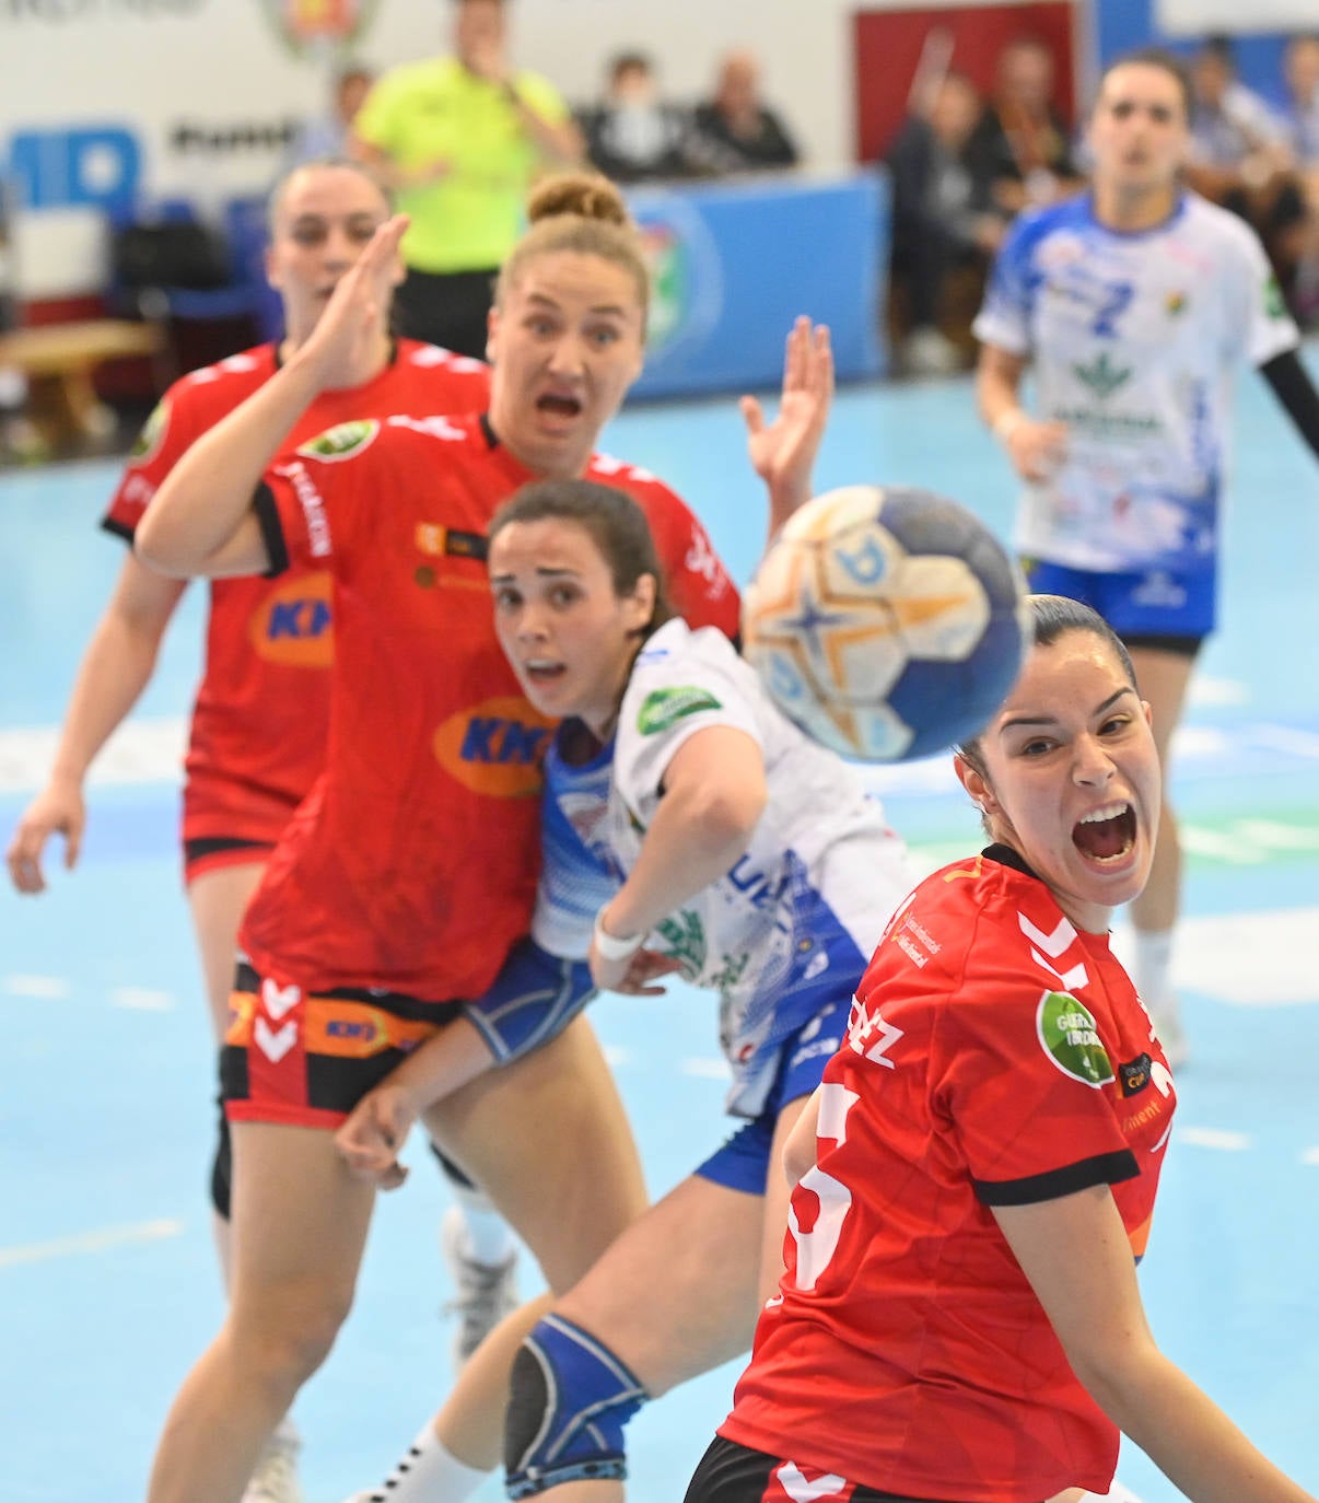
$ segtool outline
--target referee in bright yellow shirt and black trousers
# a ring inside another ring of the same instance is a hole
[[[505,0],[452,0],[454,54],[386,72],[353,122],[353,152],[412,219],[400,332],[485,355],[493,280],[530,182],[581,158],[557,90],[508,60]]]

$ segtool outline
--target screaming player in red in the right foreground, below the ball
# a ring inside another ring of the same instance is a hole
[[[1113,631],[1031,603],[1023,673],[955,758],[993,843],[915,890],[865,972],[687,1503],[1107,1492],[1119,1429],[1196,1503],[1313,1503],[1145,1321],[1175,1097],[1107,929],[1149,875],[1158,755]]]

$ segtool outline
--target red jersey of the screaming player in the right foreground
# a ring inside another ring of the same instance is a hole
[[[781,1293],[720,1434],[901,1497],[1107,1492],[1118,1429],[992,1213],[1109,1184],[1145,1247],[1175,1097],[1107,938],[1002,846],[936,872],[822,1093]]]

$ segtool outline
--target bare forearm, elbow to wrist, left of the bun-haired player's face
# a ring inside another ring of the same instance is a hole
[[[137,555],[162,574],[209,574],[249,520],[252,493],[288,430],[318,395],[317,367],[300,353],[203,434],[156,491],[137,529]],[[252,573],[269,561],[255,556]],[[227,568],[225,573],[242,573]]]

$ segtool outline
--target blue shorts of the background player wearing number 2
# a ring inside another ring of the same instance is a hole
[[[1217,564],[1200,568],[1101,574],[1049,559],[1022,559],[1037,595],[1067,595],[1097,610],[1128,646],[1194,651],[1214,630]]]

